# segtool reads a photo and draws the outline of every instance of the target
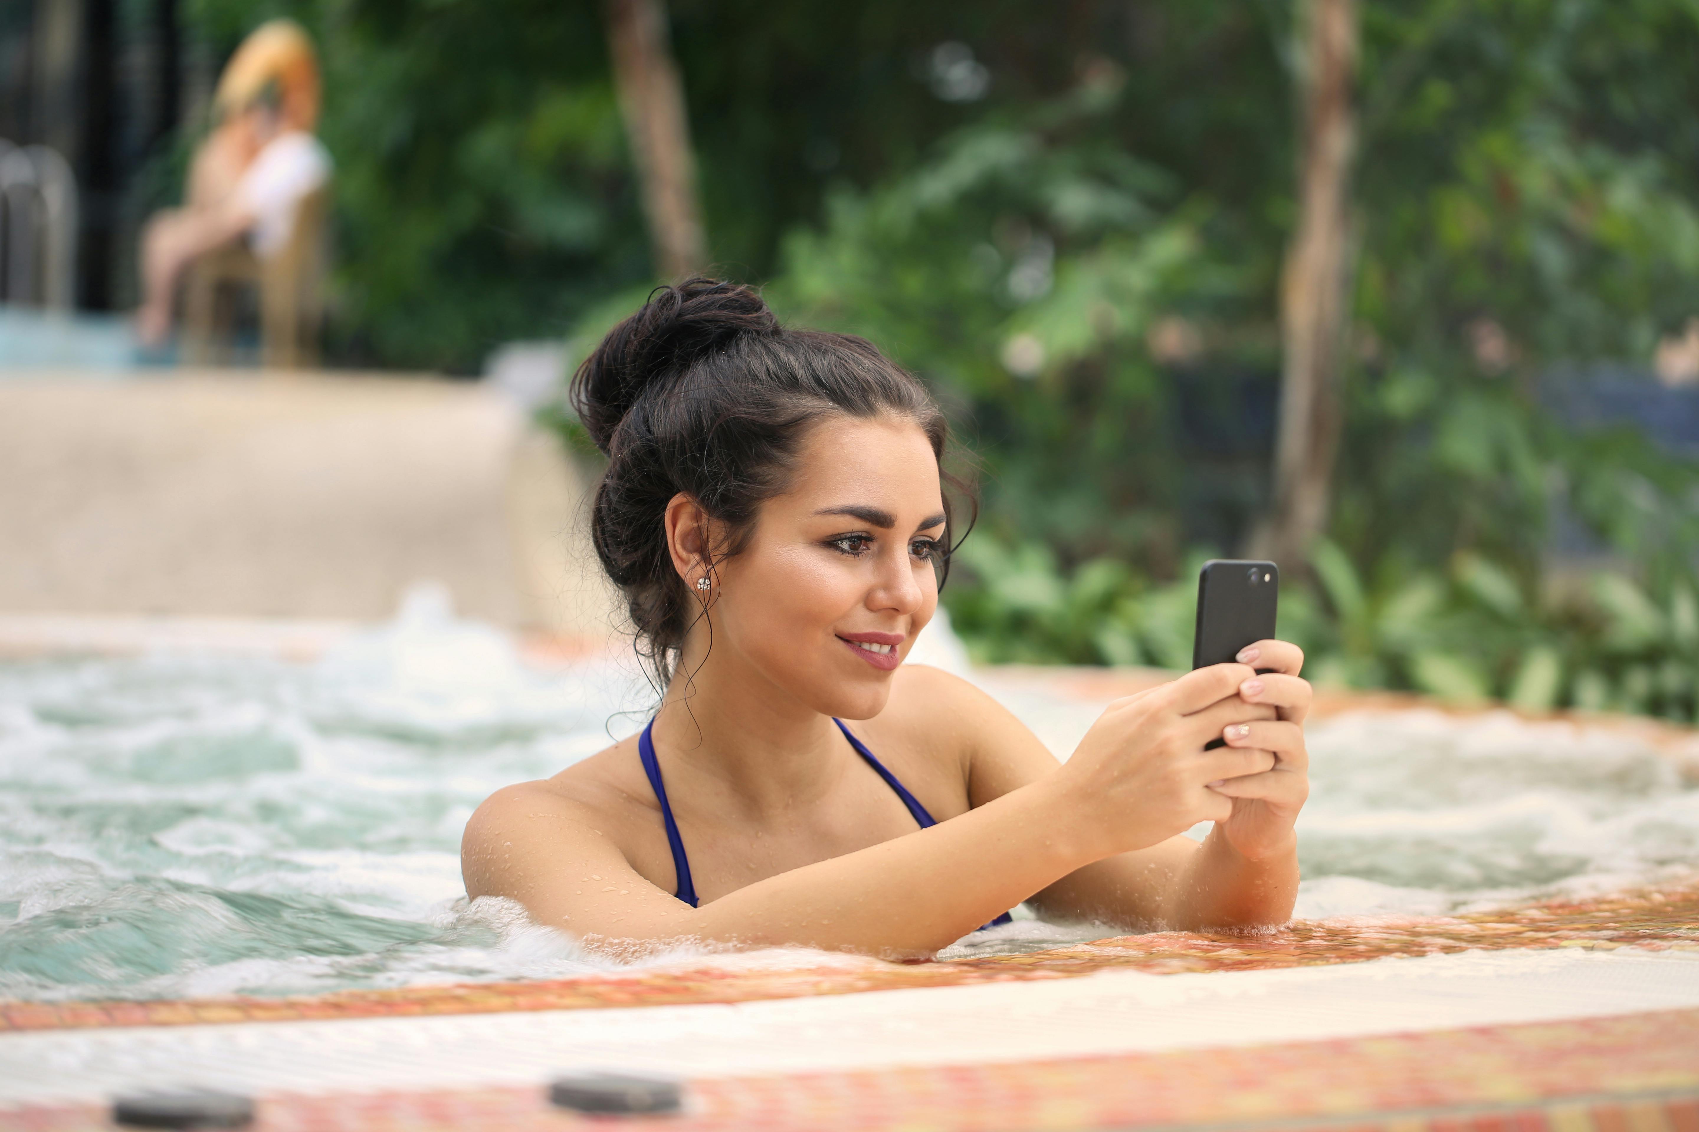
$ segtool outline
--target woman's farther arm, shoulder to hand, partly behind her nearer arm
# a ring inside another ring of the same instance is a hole
[[[1171,837],[1082,866],[1038,893],[1038,908],[1055,916],[1172,928],[1261,927],[1291,916],[1298,893],[1293,821],[1308,796],[1303,718],[1310,684],[1298,677],[1303,652],[1295,645],[1259,642],[1250,648],[1257,652],[1247,650],[1247,660],[1273,672],[1232,689],[1232,701],[1247,711],[1233,723],[1250,730],[1227,742],[1261,757],[1262,765],[1211,787],[1233,799],[1227,820],[1216,821],[1203,843]],[[951,716],[972,726],[962,742],[974,752],[968,782],[975,806],[1055,772],[1055,757],[1008,709],[962,681],[933,679],[955,686],[929,689],[934,701],[972,701],[955,704]],[[1126,813],[1121,820],[1137,818]]]

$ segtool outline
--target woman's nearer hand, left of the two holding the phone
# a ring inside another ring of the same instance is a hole
[[[1104,709],[1058,771],[1098,855],[1145,849],[1198,821],[1233,816],[1239,803],[1211,784],[1261,779],[1274,755],[1254,742],[1215,750],[1205,745],[1235,726],[1276,723],[1274,706],[1250,703],[1240,691],[1254,679],[1250,665],[1216,664]],[[1298,743],[1301,752],[1301,737]]]

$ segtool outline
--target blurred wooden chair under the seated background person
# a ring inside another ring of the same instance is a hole
[[[319,187],[296,205],[289,243],[265,260],[246,243],[231,243],[190,265],[183,295],[183,360],[228,365],[234,360],[234,295],[260,297],[260,361],[277,368],[318,365],[325,322],[330,188]]]

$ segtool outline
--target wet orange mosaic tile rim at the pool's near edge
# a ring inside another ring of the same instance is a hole
[[[1157,932],[1018,955],[921,964],[868,961],[848,967],[785,971],[715,967],[634,971],[629,976],[341,991],[311,998],[0,1001],[0,1032],[741,1003],[878,989],[1062,979],[1109,969],[1149,974],[1269,971],[1471,949],[1553,947],[1699,952],[1699,883],[1587,901],[1544,901],[1463,916],[1317,920],[1257,935]]]

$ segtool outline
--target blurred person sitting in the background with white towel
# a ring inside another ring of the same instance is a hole
[[[177,285],[195,260],[234,241],[262,260],[289,244],[301,202],[330,180],[330,154],[313,136],[318,110],[308,34],[292,20],[262,24],[219,78],[217,124],[195,149],[183,207],[155,214],[143,231],[144,346],[170,336]]]

